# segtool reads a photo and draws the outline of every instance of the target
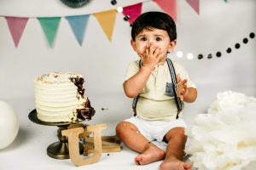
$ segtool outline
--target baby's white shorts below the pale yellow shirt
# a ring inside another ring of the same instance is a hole
[[[131,122],[137,126],[139,132],[143,134],[149,141],[156,139],[159,142],[162,142],[166,133],[174,127],[187,127],[183,119],[178,118],[172,122],[166,121],[148,121],[137,116],[132,116],[129,119],[126,119],[125,122]]]

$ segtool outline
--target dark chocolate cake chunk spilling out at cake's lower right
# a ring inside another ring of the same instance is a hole
[[[78,118],[81,120],[91,120],[91,117],[94,116],[94,109],[90,106],[90,100],[87,98],[84,103],[83,109],[77,109]]]

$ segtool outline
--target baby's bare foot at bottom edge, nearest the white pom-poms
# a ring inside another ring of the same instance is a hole
[[[191,164],[176,158],[166,159],[160,164],[160,170],[190,170]]]

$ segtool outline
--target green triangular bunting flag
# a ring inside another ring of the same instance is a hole
[[[49,46],[52,47],[61,17],[38,17],[38,20],[44,30]]]

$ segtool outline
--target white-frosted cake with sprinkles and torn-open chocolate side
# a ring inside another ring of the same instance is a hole
[[[35,78],[38,119],[44,122],[90,120],[94,110],[84,99],[84,77],[72,72],[50,72]]]

